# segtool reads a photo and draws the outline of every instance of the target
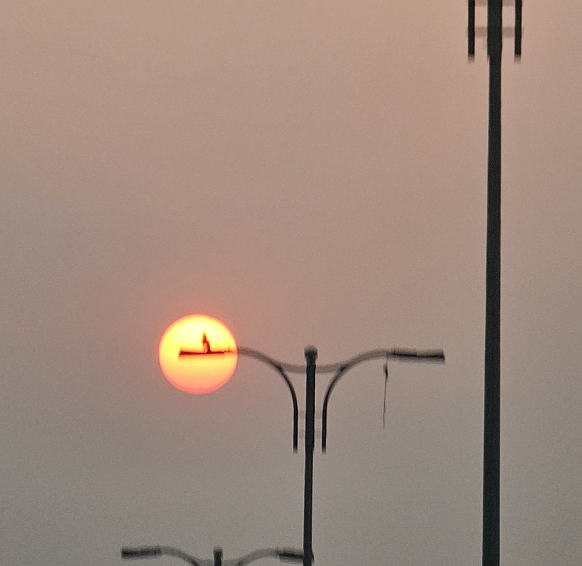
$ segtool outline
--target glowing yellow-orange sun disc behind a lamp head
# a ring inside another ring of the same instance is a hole
[[[210,393],[222,387],[234,373],[236,360],[236,342],[228,328],[203,314],[176,320],[159,341],[164,376],[187,393]]]

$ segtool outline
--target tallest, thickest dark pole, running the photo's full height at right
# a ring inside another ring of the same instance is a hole
[[[502,29],[502,0],[489,0],[487,5],[489,147],[487,164],[487,270],[485,275],[483,566],[499,566]]]

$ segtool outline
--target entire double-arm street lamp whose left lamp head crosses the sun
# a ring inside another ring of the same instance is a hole
[[[317,360],[317,348],[307,346],[305,348],[306,365],[295,365],[283,363],[270,358],[262,352],[253,348],[238,348],[237,352],[241,356],[254,358],[271,366],[285,380],[291,399],[293,402],[293,451],[297,452],[297,432],[298,413],[297,395],[288,373],[305,373],[306,376],[306,401],[305,401],[305,468],[304,468],[304,491],[303,491],[303,566],[311,566],[313,562],[312,547],[312,527],[313,527],[313,451],[315,445],[315,362]],[[200,355],[200,352],[181,350],[179,356]],[[213,355],[208,351],[206,355]],[[350,369],[363,362],[374,359],[385,359],[386,368],[389,359],[416,361],[416,362],[444,362],[445,355],[442,350],[415,350],[405,348],[375,349],[360,353],[353,358],[339,363],[317,366],[319,373],[331,373],[333,377],[329,381],[325,391],[322,408],[321,426],[321,450],[327,448],[327,413],[329,396],[339,379]],[[387,369],[386,369],[387,372]]]

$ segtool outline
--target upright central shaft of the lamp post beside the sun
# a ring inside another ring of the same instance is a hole
[[[303,566],[311,566],[313,557],[313,447],[315,444],[315,360],[317,348],[305,349],[305,484],[303,492]]]

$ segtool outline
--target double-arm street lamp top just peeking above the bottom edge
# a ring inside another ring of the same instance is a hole
[[[296,549],[260,549],[240,558],[231,558],[230,560],[222,560],[222,549],[219,546],[215,547],[214,558],[210,560],[196,558],[172,546],[140,546],[136,548],[123,547],[121,549],[123,560],[128,558],[161,558],[162,556],[174,556],[184,562],[193,564],[193,566],[245,566],[255,560],[269,557],[279,558],[281,561],[288,562],[303,561],[303,553]]]

